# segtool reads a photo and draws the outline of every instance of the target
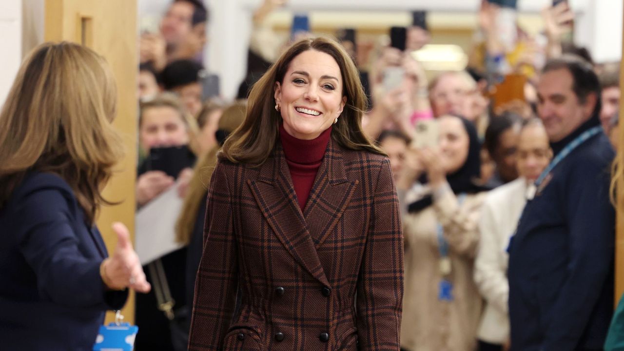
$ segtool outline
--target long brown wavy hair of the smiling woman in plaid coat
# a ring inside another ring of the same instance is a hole
[[[366,95],[359,80],[359,72],[349,54],[338,42],[326,37],[301,39],[289,47],[280,58],[253,85],[248,99],[245,122],[223,145],[220,159],[234,163],[261,164],[270,156],[278,139],[281,115],[275,111],[275,82],[282,83],[290,62],[301,52],[315,50],[329,54],[340,68],[343,96],[347,101],[338,123],[333,125],[331,137],[346,149],[365,150],[385,155],[374,146],[362,130],[361,122],[366,108]]]

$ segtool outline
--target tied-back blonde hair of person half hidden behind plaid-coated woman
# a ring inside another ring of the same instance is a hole
[[[245,119],[246,106],[245,100],[241,100],[226,107],[219,119],[218,129],[225,132],[234,131]],[[202,202],[206,201],[208,184],[210,184],[212,172],[215,170],[217,153],[220,149],[221,146],[218,144],[210,149],[193,169],[193,177],[188,183],[187,195],[184,197],[182,210],[180,210],[180,215],[175,223],[175,240],[180,244],[187,245],[190,242],[197,220],[197,211]]]

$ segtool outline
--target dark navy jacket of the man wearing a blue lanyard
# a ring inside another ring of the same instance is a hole
[[[598,125],[592,118],[553,150]],[[613,156],[600,132],[527,202],[509,252],[512,350],[602,349],[613,311]]]

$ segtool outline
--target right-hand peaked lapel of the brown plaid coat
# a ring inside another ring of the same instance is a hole
[[[329,139],[323,163],[316,173],[308,202],[303,210],[303,217],[308,224],[316,249],[333,232],[358,183],[359,180],[347,179],[341,151],[336,142]]]

